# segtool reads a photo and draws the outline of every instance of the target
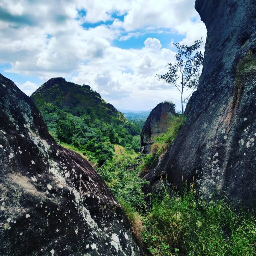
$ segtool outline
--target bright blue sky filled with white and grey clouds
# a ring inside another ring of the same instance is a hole
[[[180,110],[178,90],[155,75],[174,62],[173,43],[205,41],[194,2],[1,0],[0,73],[27,95],[61,76],[90,85],[118,109],[169,100]]]

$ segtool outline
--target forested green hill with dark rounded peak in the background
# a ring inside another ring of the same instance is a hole
[[[139,125],[129,122],[88,85],[67,82],[62,77],[48,80],[31,98],[41,111],[52,136],[72,145],[92,162],[111,160],[114,145],[139,150]]]

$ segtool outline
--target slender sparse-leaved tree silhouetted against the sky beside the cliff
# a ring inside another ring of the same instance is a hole
[[[169,71],[164,75],[156,75],[158,80],[164,80],[165,83],[174,85],[181,93],[181,109],[184,113],[185,103],[197,89],[199,77],[201,73],[201,66],[203,64],[203,54],[197,49],[202,45],[203,40],[196,40],[193,45],[174,44],[178,52],[176,54],[176,62],[174,64],[168,63]],[[191,89],[189,96],[184,96],[184,90]]]

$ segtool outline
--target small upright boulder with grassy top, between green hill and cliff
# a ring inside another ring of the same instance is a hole
[[[175,115],[175,105],[169,102],[158,104],[150,112],[140,135],[142,153],[150,153],[155,138],[167,131],[170,117],[173,115]]]

